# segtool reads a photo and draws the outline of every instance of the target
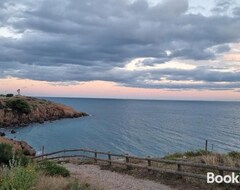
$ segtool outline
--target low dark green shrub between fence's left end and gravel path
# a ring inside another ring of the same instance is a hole
[[[70,176],[70,173],[66,168],[50,161],[43,161],[39,163],[39,169],[43,171],[46,175],[50,176],[62,176],[62,177]]]

